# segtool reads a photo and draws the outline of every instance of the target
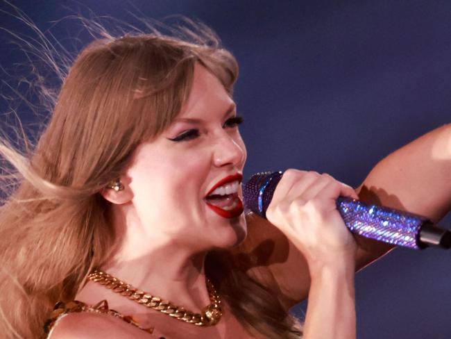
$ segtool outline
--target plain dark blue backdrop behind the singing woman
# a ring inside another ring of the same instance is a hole
[[[86,15],[84,5],[132,23],[127,10],[155,19],[182,14],[214,28],[240,65],[245,176],[297,167],[356,186],[383,156],[451,121],[450,1],[14,3],[42,31],[76,8]],[[5,13],[0,26],[25,31]],[[68,44],[80,31],[68,19],[57,27],[53,33]],[[1,33],[1,66],[10,69],[24,58],[8,40]],[[33,120],[26,112],[19,109],[22,119]],[[443,225],[450,224],[448,215]],[[358,338],[450,338],[450,256],[396,249],[357,274]]]

